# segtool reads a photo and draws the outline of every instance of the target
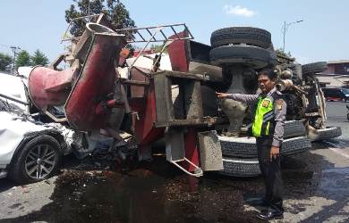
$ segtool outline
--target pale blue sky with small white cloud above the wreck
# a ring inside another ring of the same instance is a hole
[[[349,1],[336,0],[121,0],[138,27],[185,23],[195,41],[209,45],[211,33],[232,26],[267,29],[275,48],[298,62],[349,59]],[[64,11],[72,0],[0,0],[0,52],[36,49],[50,61],[64,53]]]

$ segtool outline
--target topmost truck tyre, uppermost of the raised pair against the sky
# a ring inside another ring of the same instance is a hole
[[[253,27],[229,27],[217,29],[211,34],[212,47],[246,44],[268,48],[271,45],[271,34],[265,29]]]

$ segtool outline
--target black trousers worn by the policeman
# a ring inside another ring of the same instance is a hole
[[[270,161],[270,149],[273,141],[270,137],[257,137],[258,161],[260,171],[266,186],[265,202],[271,209],[284,212],[283,208],[283,180],[280,171],[280,157]]]

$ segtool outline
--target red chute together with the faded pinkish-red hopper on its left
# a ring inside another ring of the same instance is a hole
[[[105,127],[110,115],[107,109],[96,112],[96,107],[113,97],[115,62],[119,61],[124,36],[97,23],[88,23],[86,32],[90,41],[80,71],[35,67],[30,71],[28,88],[38,109],[48,112],[49,106],[64,105],[64,120],[72,128],[88,131]]]

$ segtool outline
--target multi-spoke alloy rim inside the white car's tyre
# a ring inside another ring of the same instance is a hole
[[[45,178],[55,168],[56,152],[50,145],[36,145],[30,149],[24,166],[30,178]]]

